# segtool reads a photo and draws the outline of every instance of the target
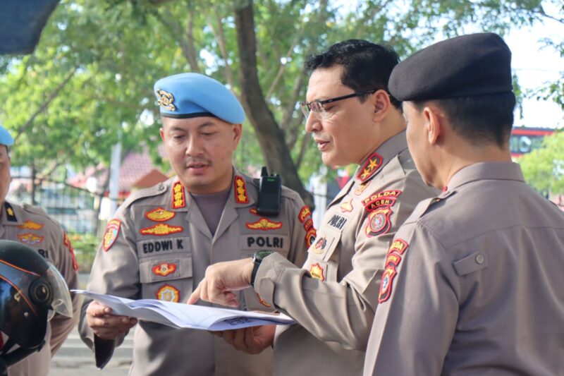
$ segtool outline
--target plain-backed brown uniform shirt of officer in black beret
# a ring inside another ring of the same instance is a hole
[[[364,375],[564,375],[564,213],[517,164],[458,171],[386,264]]]

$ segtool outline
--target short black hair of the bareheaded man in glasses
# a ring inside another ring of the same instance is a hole
[[[388,80],[394,66],[400,58],[390,47],[368,42],[367,40],[345,40],[333,44],[329,49],[319,54],[308,56],[305,68],[314,71],[317,68],[331,68],[343,66],[341,83],[362,92],[366,90],[388,90]],[[366,95],[360,97],[364,102]],[[401,109],[398,99],[390,95],[390,102],[397,109]]]

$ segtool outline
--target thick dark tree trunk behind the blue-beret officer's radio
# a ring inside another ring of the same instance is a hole
[[[243,107],[255,128],[269,171],[280,174],[285,186],[297,191],[307,205],[312,205],[313,196],[305,190],[300,181],[283,132],[264,101],[257,72],[257,42],[252,1],[241,3],[243,4],[235,0],[235,26],[240,56],[239,73]]]

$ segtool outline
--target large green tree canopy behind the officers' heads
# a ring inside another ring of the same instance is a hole
[[[13,165],[39,173],[67,163],[107,165],[121,137],[123,154],[147,145],[166,166],[157,153],[152,86],[166,75],[200,71],[240,96],[233,13],[240,4],[62,0],[34,54],[0,56],[0,119],[17,138]],[[295,105],[307,90],[307,55],[354,37],[407,56],[438,35],[503,33],[544,17],[540,0],[265,0],[254,7],[260,84],[302,180],[321,165]],[[562,104],[563,88],[554,83],[543,95]],[[243,128],[235,163],[258,168],[269,150],[261,150],[250,123]]]

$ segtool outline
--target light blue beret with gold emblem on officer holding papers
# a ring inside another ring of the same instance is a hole
[[[219,81],[198,73],[180,73],[154,84],[161,116],[186,119],[215,116],[232,124],[245,121],[243,106]]]

